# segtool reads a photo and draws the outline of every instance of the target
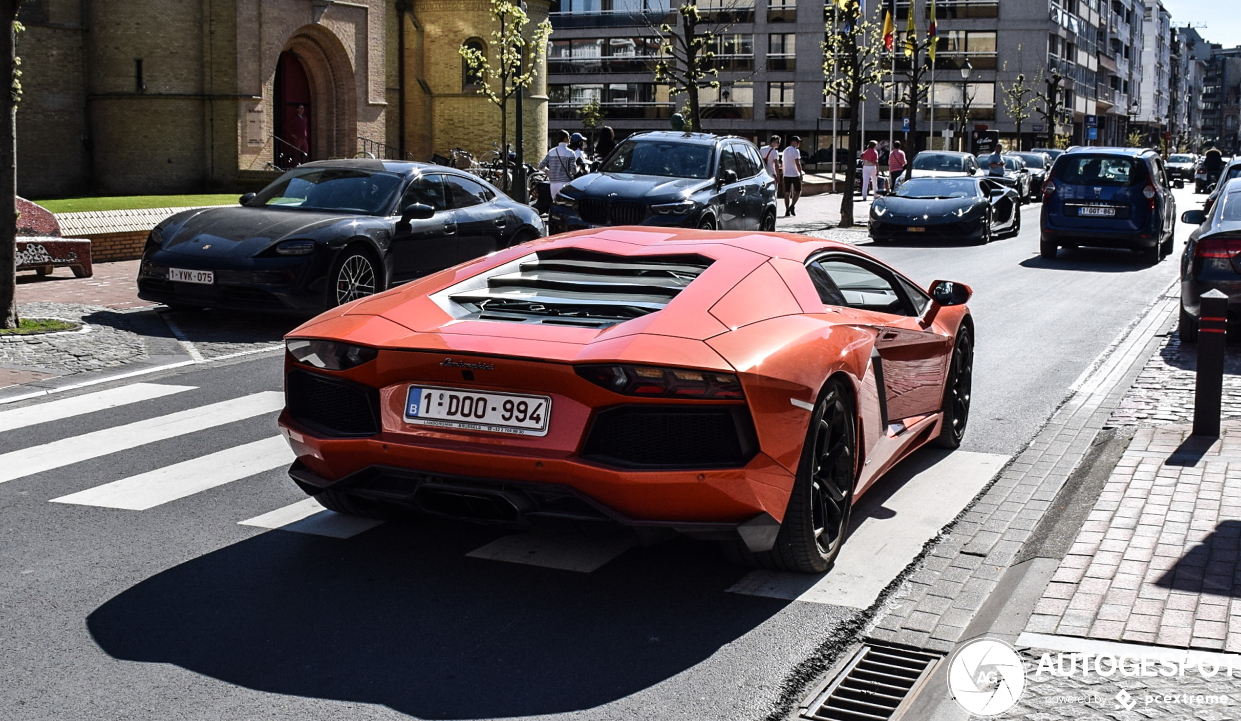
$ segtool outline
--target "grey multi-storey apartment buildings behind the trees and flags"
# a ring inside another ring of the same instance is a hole
[[[705,129],[753,139],[798,134],[812,153],[843,145],[848,108],[833,107],[823,94],[822,42],[833,6],[824,0],[700,0],[702,14],[721,29],[714,48],[721,84],[701,93]],[[598,99],[604,124],[622,135],[666,128],[685,101],[654,82],[653,65],[656,29],[675,17],[675,7],[676,0],[553,5],[550,127],[581,128],[580,108]],[[897,36],[911,11],[920,36],[926,34],[930,0],[897,0],[895,7]],[[866,0],[865,9],[880,17],[879,0]],[[1173,32],[1162,0],[936,0],[936,20],[939,40],[930,93],[936,110],[932,119],[930,103],[920,108],[913,139],[918,148],[957,146],[967,107],[964,130],[998,129],[1023,146],[1047,144],[1054,134],[1069,135],[1075,144],[1123,144],[1136,124],[1159,137],[1170,123]],[[908,71],[900,37],[896,46],[900,81]],[[1020,139],[1005,92],[1018,74],[1031,88],[1021,99],[1029,117]],[[1061,78],[1060,113],[1049,123],[1034,98],[1046,92],[1052,76]],[[890,108],[887,94],[872,88],[867,96],[867,139],[905,139],[907,109]],[[952,140],[943,138],[949,128]]]

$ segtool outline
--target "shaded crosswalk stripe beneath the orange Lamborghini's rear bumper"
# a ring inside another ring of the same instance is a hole
[[[632,534],[593,537],[534,531],[496,539],[465,555],[472,558],[589,573],[635,544]]]

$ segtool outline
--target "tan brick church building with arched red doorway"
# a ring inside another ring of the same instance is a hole
[[[458,47],[488,0],[25,0],[17,190],[26,197],[253,189],[298,158],[485,155],[499,109]],[[532,24],[547,2],[529,4]],[[525,102],[527,159],[546,79]],[[299,108],[300,105],[300,108]],[[510,103],[511,105],[511,103]],[[511,113],[511,109],[510,109]],[[510,141],[511,128],[510,118]]]

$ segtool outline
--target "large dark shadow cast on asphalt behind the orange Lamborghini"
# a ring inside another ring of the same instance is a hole
[[[572,712],[710,658],[789,602],[725,593],[704,544],[593,573],[472,558],[491,530],[388,522],[349,540],[269,531],[158,573],[87,618],[114,658],[423,719]]]

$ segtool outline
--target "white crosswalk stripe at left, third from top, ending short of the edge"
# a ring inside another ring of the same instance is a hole
[[[288,465],[294,458],[284,437],[273,436],[53,498],[51,503],[144,511],[217,485]]]

